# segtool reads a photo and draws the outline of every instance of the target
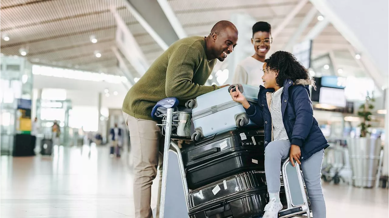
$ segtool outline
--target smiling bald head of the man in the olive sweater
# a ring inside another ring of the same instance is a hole
[[[238,41],[238,30],[230,21],[219,21],[211,30],[207,40],[208,59],[224,59],[230,54]]]

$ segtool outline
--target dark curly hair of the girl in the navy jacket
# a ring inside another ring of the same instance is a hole
[[[265,60],[266,70],[278,72],[275,82],[278,86],[284,86],[284,81],[290,79],[293,83],[306,80],[305,85],[315,87],[315,81],[310,78],[309,71],[301,65],[293,54],[286,51],[277,51]]]

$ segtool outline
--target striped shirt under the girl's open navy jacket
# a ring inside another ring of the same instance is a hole
[[[284,87],[272,93],[272,101],[270,102],[270,114],[272,115],[273,125],[273,141],[288,140],[284,122],[282,121],[281,111],[281,94]]]

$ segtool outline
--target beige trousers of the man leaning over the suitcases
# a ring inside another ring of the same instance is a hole
[[[123,112],[130,129],[131,153],[134,163],[135,218],[152,218],[151,185],[159,165],[159,187],[156,218],[159,218],[159,202],[162,179],[163,137],[161,129],[152,120],[138,119]],[[161,147],[161,150],[160,150]]]

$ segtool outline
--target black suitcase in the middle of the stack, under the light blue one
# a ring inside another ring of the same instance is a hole
[[[262,129],[233,129],[182,148],[189,189],[245,171],[265,170]]]

